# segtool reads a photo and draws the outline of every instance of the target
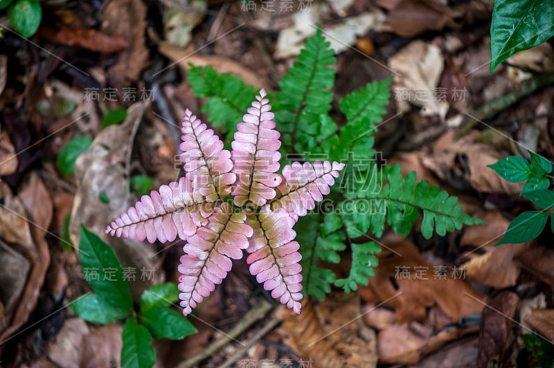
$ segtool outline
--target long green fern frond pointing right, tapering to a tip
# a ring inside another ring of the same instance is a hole
[[[400,165],[394,165],[386,167],[382,173],[386,174],[382,190],[358,192],[359,196],[346,200],[349,207],[363,207],[357,213],[346,211],[341,215],[352,237],[368,231],[381,237],[385,221],[394,232],[406,236],[420,216],[420,211],[423,212],[421,232],[425,239],[430,239],[434,232],[444,236],[447,232],[460,230],[464,224],[485,223],[463,213],[462,206],[457,204],[458,198],[449,196],[438,185],[429,186],[428,181],[416,183],[415,172],[402,178]],[[383,179],[377,176],[377,183]]]

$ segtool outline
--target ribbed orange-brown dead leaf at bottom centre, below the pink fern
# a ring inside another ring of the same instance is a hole
[[[316,367],[364,367],[377,365],[375,332],[360,320],[355,293],[332,293],[324,302],[302,302],[302,313],[283,311],[283,328],[298,356],[310,357]]]

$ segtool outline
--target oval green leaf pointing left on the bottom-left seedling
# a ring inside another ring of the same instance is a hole
[[[71,303],[71,309],[83,320],[100,324],[123,320],[129,315],[127,309],[107,303],[98,294],[83,295]]]

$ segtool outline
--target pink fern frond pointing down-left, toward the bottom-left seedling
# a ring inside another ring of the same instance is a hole
[[[204,297],[210,295],[216,284],[221,284],[229,270],[231,259],[241,259],[248,248],[248,237],[253,230],[244,223],[244,212],[233,213],[229,203],[222,203],[198,228],[184,246],[185,255],[179,265],[179,299],[183,314],[188,315]]]

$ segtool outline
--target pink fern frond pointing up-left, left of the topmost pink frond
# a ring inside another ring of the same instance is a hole
[[[236,176],[231,172],[231,152],[223,149],[222,140],[189,109],[185,111],[181,132],[184,135],[179,148],[183,153],[179,157],[193,187],[209,202],[231,193]]]

